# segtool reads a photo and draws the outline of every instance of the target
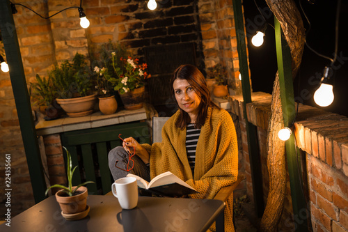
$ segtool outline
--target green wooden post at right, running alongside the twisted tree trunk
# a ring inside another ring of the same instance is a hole
[[[292,126],[296,117],[294,105],[294,89],[292,84],[292,61],[290,47],[282,37],[280,24],[276,17],[274,18],[274,27],[276,30],[276,52],[278,62],[280,98],[282,102],[284,125]],[[296,145],[294,134],[285,142],[287,157],[287,169],[290,177],[290,189],[292,197],[292,210],[294,212],[294,223],[296,231],[307,231],[308,209],[306,199],[301,190],[301,169],[296,157]]]

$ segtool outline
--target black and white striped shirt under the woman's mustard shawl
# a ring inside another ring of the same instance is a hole
[[[186,129],[186,153],[193,174],[196,160],[196,147],[200,129],[195,129],[195,124],[193,123],[189,123]]]

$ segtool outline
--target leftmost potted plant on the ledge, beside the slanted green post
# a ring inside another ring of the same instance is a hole
[[[56,87],[53,84],[52,77],[40,77],[36,75],[36,82],[32,82],[29,87],[29,95],[33,99],[33,104],[37,105],[40,111],[45,112],[45,120],[53,120],[63,115],[63,110],[57,104]]]

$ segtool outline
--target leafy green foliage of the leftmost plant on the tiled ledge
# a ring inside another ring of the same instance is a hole
[[[33,98],[35,105],[53,105],[58,95],[52,77],[45,78],[37,74],[36,82],[30,84],[29,95]]]

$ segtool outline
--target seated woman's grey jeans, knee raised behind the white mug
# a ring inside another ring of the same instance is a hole
[[[137,155],[134,155],[132,157],[132,160],[134,160],[134,167],[130,171],[123,171],[122,169],[127,169],[129,155],[125,148],[122,148],[122,146],[117,146],[116,148],[113,148],[109,152],[109,169],[111,171],[111,174],[113,176],[114,180],[117,180],[119,178],[127,176],[128,173],[135,174],[136,176],[140,176],[144,180],[150,182],[150,167],[146,166],[144,164],[143,160],[141,160],[140,157]],[[117,167],[120,167],[122,169],[118,169],[115,164],[116,161]],[[132,161],[129,162],[129,168],[132,167]]]

